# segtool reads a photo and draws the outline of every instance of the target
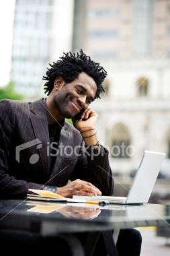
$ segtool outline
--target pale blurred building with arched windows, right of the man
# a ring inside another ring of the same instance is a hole
[[[75,0],[74,25],[73,51],[108,71],[91,107],[114,173],[135,170],[144,150],[170,158],[170,1]]]

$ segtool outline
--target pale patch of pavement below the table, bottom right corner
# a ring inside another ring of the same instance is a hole
[[[165,246],[166,238],[156,236],[155,228],[136,228],[142,234],[142,249],[140,256],[169,256],[169,246]]]

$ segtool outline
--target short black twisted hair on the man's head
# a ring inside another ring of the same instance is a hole
[[[99,65],[99,63],[91,61],[91,58],[85,55],[82,50],[80,50],[80,54],[77,53],[77,56],[75,53],[71,52],[64,53],[60,59],[61,60],[53,62],[53,65],[49,64],[51,68],[47,68],[48,71],[46,71],[46,76],[43,76],[42,78],[43,80],[48,81],[44,84],[44,90],[45,93],[47,92],[47,95],[52,92],[52,89],[54,88],[54,81],[59,75],[62,76],[66,84],[69,84],[77,79],[81,72],[85,72],[87,75],[92,77],[97,84],[97,92],[94,100],[96,98],[100,98],[99,94],[104,92],[102,83],[108,74],[105,69]]]

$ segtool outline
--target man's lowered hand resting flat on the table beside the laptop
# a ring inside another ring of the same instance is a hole
[[[57,187],[56,194],[67,198],[72,198],[73,195],[87,195],[92,197],[93,195],[101,195],[101,191],[91,183],[77,179],[64,187]]]

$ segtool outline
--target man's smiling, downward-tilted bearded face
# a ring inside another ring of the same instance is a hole
[[[70,84],[64,84],[54,96],[60,114],[67,119],[85,110],[93,101],[97,85],[92,77],[82,72]]]

